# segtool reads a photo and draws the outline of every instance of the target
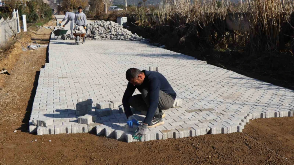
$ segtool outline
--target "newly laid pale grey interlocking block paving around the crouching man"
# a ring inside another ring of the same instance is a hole
[[[182,104],[165,110],[165,124],[149,129],[142,141],[241,132],[251,118],[293,116],[293,91],[193,57],[135,41],[86,40],[75,45],[73,40],[51,38],[49,63],[41,69],[31,120],[53,118],[54,123],[39,126],[38,134],[60,133],[61,127],[68,133],[88,132],[95,124],[77,125],[77,99],[92,98],[89,113],[95,114],[96,103],[121,101],[128,68],[150,66],[159,67]],[[125,114],[115,109],[113,115],[97,118],[97,134],[133,141],[132,132],[124,130]]]

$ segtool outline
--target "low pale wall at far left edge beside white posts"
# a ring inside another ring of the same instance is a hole
[[[8,38],[10,38],[14,32],[17,33],[17,18],[11,18],[0,20],[0,45],[4,44]],[[14,31],[14,32],[13,32]]]

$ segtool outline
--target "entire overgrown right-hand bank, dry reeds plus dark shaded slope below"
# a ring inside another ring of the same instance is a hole
[[[126,16],[133,33],[166,49],[294,89],[293,9],[289,0],[163,0],[130,7]]]

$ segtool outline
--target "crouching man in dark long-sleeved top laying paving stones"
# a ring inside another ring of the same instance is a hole
[[[126,79],[129,81],[123,95],[123,108],[128,118],[128,124],[137,122],[133,116],[131,107],[139,111],[147,111],[143,125],[138,126],[135,139],[141,138],[147,131],[147,127],[163,125],[162,118],[165,114],[161,110],[169,109],[176,99],[176,92],[168,83],[166,78],[153,71],[130,68],[126,72]],[[138,89],[141,94],[133,95]]]

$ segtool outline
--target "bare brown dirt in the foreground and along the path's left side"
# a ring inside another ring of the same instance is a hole
[[[294,118],[289,117],[251,120],[243,133],[149,142],[126,143],[91,133],[29,134],[45,58],[46,48],[22,52],[11,75],[0,75],[0,165],[294,164]]]

